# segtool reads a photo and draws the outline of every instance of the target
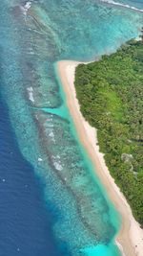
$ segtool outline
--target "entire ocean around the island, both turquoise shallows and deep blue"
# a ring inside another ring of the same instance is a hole
[[[94,175],[56,62],[137,37],[143,1],[0,3],[0,256],[120,256],[121,217]]]

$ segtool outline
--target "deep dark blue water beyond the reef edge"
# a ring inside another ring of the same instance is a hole
[[[52,206],[43,198],[40,180],[18,149],[0,96],[0,256],[63,256],[51,233]]]

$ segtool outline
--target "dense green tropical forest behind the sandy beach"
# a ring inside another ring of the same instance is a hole
[[[81,112],[97,128],[106,164],[143,227],[143,38],[78,65],[74,83]]]

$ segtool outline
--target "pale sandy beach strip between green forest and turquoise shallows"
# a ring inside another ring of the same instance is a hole
[[[57,70],[66,94],[67,105],[70,109],[74,125],[80,141],[92,159],[96,174],[106,188],[117,211],[122,217],[122,226],[116,236],[116,244],[126,256],[142,256],[143,230],[134,220],[132,210],[126,198],[114,183],[112,175],[105,164],[104,155],[97,145],[96,129],[92,128],[80,112],[74,88],[75,67],[80,62],[62,60],[57,62]]]

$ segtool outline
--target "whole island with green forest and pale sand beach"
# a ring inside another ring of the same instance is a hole
[[[143,43],[131,40],[94,62],[57,66],[80,141],[121,214],[116,243],[123,254],[141,256]]]

